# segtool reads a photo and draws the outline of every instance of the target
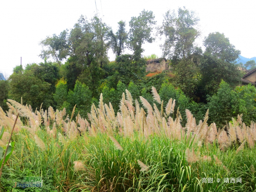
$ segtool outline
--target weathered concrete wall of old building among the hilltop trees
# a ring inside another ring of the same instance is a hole
[[[165,58],[152,59],[147,61],[146,71],[150,72],[162,72],[169,69],[169,64],[166,63]]]

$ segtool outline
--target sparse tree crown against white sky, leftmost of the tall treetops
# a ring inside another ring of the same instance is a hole
[[[42,49],[41,54],[39,54],[41,59],[52,57],[61,65],[60,61],[67,59],[69,55],[70,44],[68,37],[68,30],[64,30],[60,35],[53,34],[52,37],[48,36],[42,40],[39,45],[45,49]]]

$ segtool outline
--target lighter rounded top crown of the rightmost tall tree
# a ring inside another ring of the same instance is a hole
[[[206,53],[227,62],[235,61],[241,54],[240,50],[230,44],[229,38],[219,32],[210,33],[208,37],[205,37],[203,45],[206,47]]]

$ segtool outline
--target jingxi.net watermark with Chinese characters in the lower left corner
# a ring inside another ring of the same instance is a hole
[[[14,188],[43,187],[42,177],[24,177],[23,181],[15,182]]]

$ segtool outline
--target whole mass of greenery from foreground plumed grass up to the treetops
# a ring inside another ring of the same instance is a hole
[[[223,33],[200,47],[195,11],[162,19],[82,15],[0,80],[2,192],[256,192],[255,61]],[[143,55],[159,38],[161,58]],[[43,187],[12,187],[24,177]]]

